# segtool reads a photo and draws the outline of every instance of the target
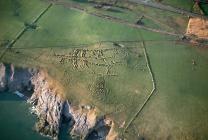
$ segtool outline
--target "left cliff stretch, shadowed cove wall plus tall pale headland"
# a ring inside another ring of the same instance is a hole
[[[38,116],[37,131],[57,137],[65,101],[50,84],[47,74],[42,70],[0,64],[0,91],[19,91],[31,95],[28,102],[33,105],[33,111]]]

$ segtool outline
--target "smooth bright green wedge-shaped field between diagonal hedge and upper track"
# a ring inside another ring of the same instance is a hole
[[[134,41],[140,40],[139,30],[148,36],[147,39],[170,38],[56,5],[37,25],[36,30],[28,30],[14,47],[70,47],[99,41]]]

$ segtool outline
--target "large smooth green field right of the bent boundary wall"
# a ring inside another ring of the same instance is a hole
[[[132,124],[134,136],[207,139],[207,50],[177,42],[147,43],[147,50],[157,92]]]

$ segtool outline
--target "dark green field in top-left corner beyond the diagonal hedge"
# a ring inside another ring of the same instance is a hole
[[[0,1],[0,44],[15,39],[24,28],[24,23],[31,23],[48,3],[39,0],[1,0]]]

